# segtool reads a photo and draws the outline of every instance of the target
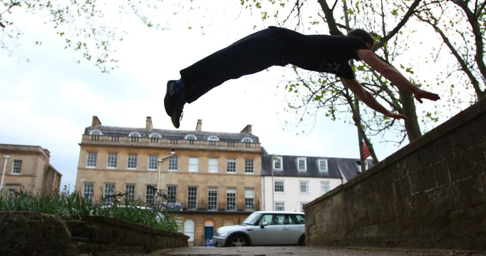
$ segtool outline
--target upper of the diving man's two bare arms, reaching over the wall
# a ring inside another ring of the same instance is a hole
[[[411,83],[400,72],[394,69],[392,66],[383,62],[377,55],[370,50],[357,50],[358,57],[366,62],[372,69],[383,75],[390,82],[396,86],[402,87],[405,90],[413,93],[418,102],[422,103],[422,99],[438,100],[439,95],[431,92],[424,91]]]

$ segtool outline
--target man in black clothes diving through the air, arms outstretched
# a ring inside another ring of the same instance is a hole
[[[439,96],[419,89],[400,72],[383,62],[370,49],[373,38],[364,30],[349,31],[347,36],[303,35],[293,30],[269,27],[242,38],[188,68],[181,79],[167,82],[164,106],[172,124],[179,128],[185,103],[191,103],[223,82],[254,74],[272,66],[292,64],[302,69],[337,75],[371,109],[397,119],[406,116],[388,111],[355,79],[350,59],[362,60],[396,86],[422,99]]]

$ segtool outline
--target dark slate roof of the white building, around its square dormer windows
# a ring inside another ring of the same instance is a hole
[[[273,160],[272,155],[266,151],[261,156],[261,175],[272,176]],[[312,177],[312,178],[341,178],[340,169],[344,174],[346,180],[350,180],[359,174],[359,166],[354,158],[334,158],[334,157],[308,157],[308,156],[282,156],[283,166],[282,170],[273,170],[274,176],[281,177]],[[299,171],[297,169],[297,159],[306,158],[307,170]],[[319,159],[327,159],[327,172],[319,172]],[[373,163],[372,160],[367,159],[368,168]]]

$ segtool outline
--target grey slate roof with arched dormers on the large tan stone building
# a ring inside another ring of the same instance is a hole
[[[189,134],[196,136],[197,140],[207,140],[210,136],[216,136],[219,138],[219,141],[228,142],[240,142],[242,139],[248,137],[253,140],[253,143],[259,143],[258,137],[249,133],[197,132],[96,125],[86,127],[84,134],[89,135],[92,130],[100,130],[106,136],[121,137],[128,137],[131,132],[138,132],[142,137],[148,137],[151,133],[159,133],[165,139],[184,139]]]

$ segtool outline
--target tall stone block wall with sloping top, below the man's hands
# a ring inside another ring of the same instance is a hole
[[[486,99],[305,207],[314,246],[486,249]]]

